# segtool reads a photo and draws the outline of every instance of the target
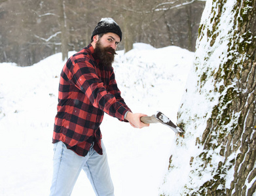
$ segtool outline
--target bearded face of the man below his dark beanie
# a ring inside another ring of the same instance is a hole
[[[101,64],[111,67],[115,54],[117,54],[115,50],[117,49],[119,42],[120,38],[115,33],[106,33],[96,41],[94,54],[100,59]]]

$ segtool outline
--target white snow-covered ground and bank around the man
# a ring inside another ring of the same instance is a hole
[[[118,53],[113,67],[126,104],[133,112],[148,115],[159,110],[176,122],[194,53],[147,44],[134,44],[130,52]],[[61,54],[31,67],[0,63],[0,195],[49,193],[52,129],[63,65]],[[161,124],[134,129],[107,115],[101,131],[115,195],[158,195],[174,132]],[[83,172],[72,195],[94,195]]]

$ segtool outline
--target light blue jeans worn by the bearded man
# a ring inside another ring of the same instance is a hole
[[[103,155],[93,145],[85,157],[67,149],[63,142],[54,144],[53,176],[50,195],[71,195],[81,170],[86,172],[97,196],[113,196],[114,186],[109,172],[105,146],[101,140]]]

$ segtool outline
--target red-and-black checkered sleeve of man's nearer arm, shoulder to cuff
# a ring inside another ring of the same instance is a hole
[[[119,120],[124,120],[124,114],[130,109],[121,99],[117,86],[113,84],[111,92],[107,91],[98,76],[94,62],[85,56],[74,56],[74,58],[70,70],[75,86],[88,97],[94,107]]]

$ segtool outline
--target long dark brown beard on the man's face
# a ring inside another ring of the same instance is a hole
[[[94,49],[94,56],[100,60],[103,67],[111,67],[115,58],[115,49],[111,47],[103,47],[100,40],[96,42]]]

